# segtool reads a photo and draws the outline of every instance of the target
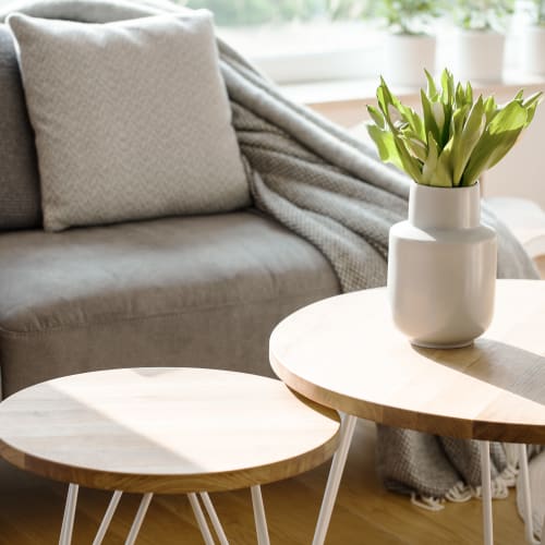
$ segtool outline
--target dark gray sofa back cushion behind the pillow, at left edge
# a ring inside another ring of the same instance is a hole
[[[41,222],[34,133],[9,28],[0,24],[0,230]]]

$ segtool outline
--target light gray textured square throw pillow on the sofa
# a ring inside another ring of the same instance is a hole
[[[209,12],[8,24],[47,230],[250,203]]]

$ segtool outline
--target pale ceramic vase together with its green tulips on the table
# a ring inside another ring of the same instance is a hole
[[[426,76],[422,116],[382,80],[368,132],[380,158],[413,180],[409,219],[390,229],[393,320],[415,344],[453,348],[483,334],[494,308],[496,235],[481,222],[479,177],[511,149],[542,94],[499,106],[447,70],[440,86]]]

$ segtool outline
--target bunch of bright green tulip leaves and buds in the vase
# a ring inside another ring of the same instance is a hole
[[[445,69],[440,87],[426,72],[421,89],[422,116],[392,95],[384,78],[378,108],[367,106],[368,133],[380,159],[405,171],[416,183],[457,187],[473,185],[511,149],[532,121],[542,93],[524,99],[522,90],[504,106],[493,96],[473,99],[468,83],[455,84]]]

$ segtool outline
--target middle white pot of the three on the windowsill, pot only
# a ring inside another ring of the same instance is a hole
[[[500,82],[505,41],[499,33],[459,29],[455,36],[452,73],[463,82]]]

